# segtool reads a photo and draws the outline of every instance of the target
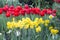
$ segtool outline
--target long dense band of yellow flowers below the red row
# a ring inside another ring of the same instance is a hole
[[[12,29],[12,28],[24,28],[24,29],[34,29],[36,28],[36,32],[41,31],[40,24],[45,24],[45,26],[48,26],[50,23],[50,20],[43,20],[42,18],[35,18],[35,20],[31,20],[30,18],[22,18],[22,20],[16,21],[15,18],[12,19],[13,21],[8,21],[7,22],[7,28]]]

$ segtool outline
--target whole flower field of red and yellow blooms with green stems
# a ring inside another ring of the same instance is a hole
[[[0,7],[0,40],[60,40],[60,11],[38,4]]]

